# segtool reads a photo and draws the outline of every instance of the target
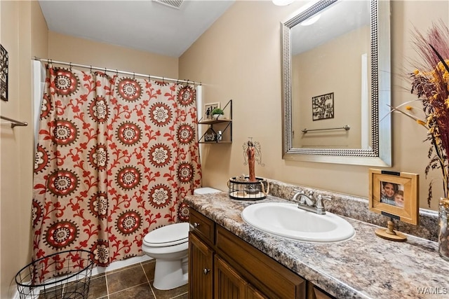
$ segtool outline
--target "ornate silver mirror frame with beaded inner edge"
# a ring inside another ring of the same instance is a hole
[[[307,10],[281,24],[283,67],[283,159],[328,162],[349,165],[391,167],[391,62],[390,4],[370,0],[371,32],[371,146],[358,148],[294,148],[292,127],[292,48],[290,30],[334,4],[337,0],[321,0]]]

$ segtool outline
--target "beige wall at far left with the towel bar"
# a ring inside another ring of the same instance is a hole
[[[47,27],[37,1],[1,1],[0,43],[8,50],[8,102],[2,116],[30,123],[0,126],[0,298],[11,298],[14,275],[29,263],[33,169],[32,55],[46,55]]]

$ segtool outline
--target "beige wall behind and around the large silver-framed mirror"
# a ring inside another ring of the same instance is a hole
[[[411,99],[403,81],[415,57],[410,30],[426,31],[431,22],[449,21],[448,1],[392,1],[392,102]],[[236,1],[215,24],[180,57],[180,77],[204,85],[204,102],[234,99],[232,145],[203,145],[203,185],[227,190],[227,180],[242,172],[242,144],[253,137],[262,145],[264,167],[256,175],[368,197],[368,168],[354,165],[286,161],[281,157],[281,49],[279,23],[288,20],[304,2],[274,6],[271,1]],[[255,13],[257,12],[257,13]],[[422,18],[431,15],[431,18]],[[441,196],[440,176],[424,177],[429,144],[426,132],[410,119],[393,116],[393,167],[420,174],[420,207],[427,207],[427,187],[435,179],[434,197]],[[436,209],[437,200],[433,200]]]

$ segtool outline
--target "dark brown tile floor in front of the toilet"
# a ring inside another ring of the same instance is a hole
[[[160,291],[153,287],[155,260],[91,277],[88,299],[186,299],[188,286]]]

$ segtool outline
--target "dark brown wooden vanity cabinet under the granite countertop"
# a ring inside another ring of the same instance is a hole
[[[189,298],[307,298],[307,281],[190,209]]]

